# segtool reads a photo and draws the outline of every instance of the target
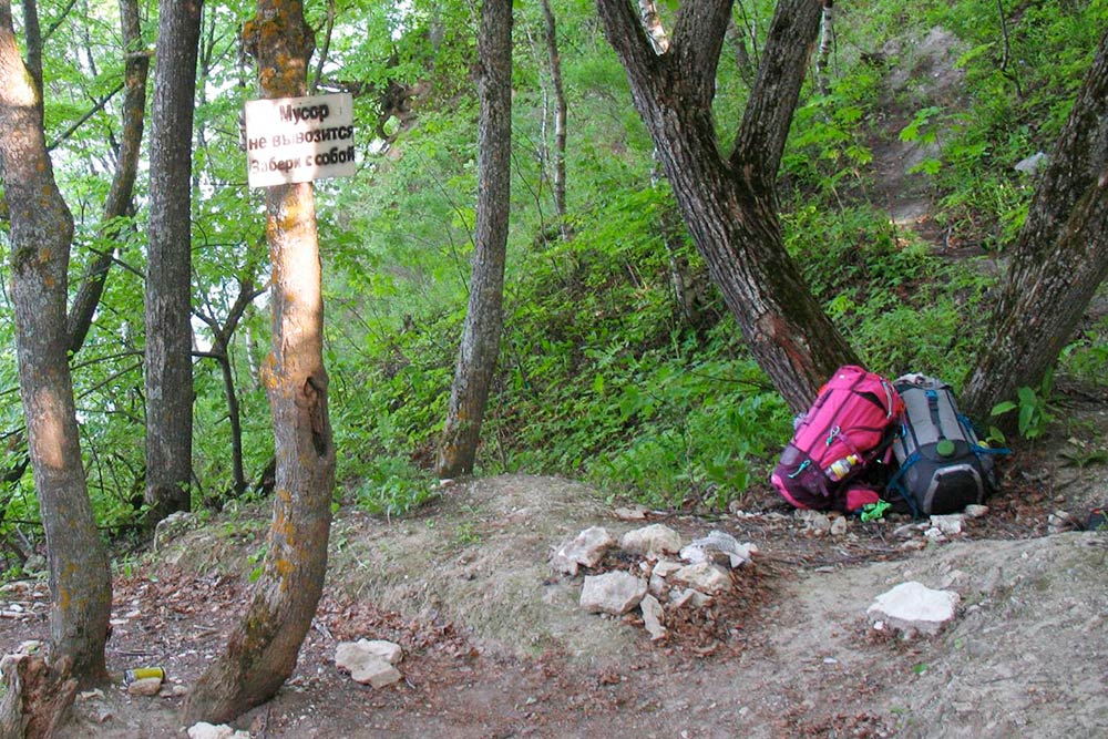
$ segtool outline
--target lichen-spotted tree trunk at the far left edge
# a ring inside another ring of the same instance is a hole
[[[20,396],[50,565],[51,660],[82,682],[107,677],[111,576],[85,486],[65,356],[73,217],[54,183],[42,100],[0,2],[0,174],[11,211],[11,283]]]

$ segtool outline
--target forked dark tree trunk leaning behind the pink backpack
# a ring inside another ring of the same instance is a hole
[[[685,223],[747,346],[789,406],[806,409],[837,367],[856,362],[784,248],[774,188],[822,9],[781,0],[729,158],[711,101],[731,0],[683,3],[656,53],[630,0],[597,0]]]

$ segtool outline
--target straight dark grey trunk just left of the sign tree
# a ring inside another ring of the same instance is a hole
[[[151,531],[189,509],[193,453],[192,135],[201,0],[160,0],[146,270],[146,492]]]

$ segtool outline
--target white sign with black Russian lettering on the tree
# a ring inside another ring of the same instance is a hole
[[[246,103],[250,187],[355,174],[350,93]]]

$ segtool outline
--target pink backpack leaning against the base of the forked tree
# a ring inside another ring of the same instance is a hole
[[[876,494],[860,494],[854,478],[889,449],[903,412],[892,382],[840,367],[798,419],[770,482],[798,509],[849,512],[873,502]]]

